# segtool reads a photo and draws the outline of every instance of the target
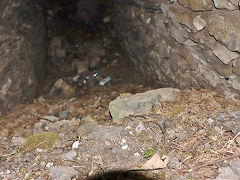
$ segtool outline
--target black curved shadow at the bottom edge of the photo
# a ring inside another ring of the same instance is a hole
[[[142,173],[135,171],[109,171],[87,178],[87,180],[157,180],[157,179],[161,178],[146,177]]]

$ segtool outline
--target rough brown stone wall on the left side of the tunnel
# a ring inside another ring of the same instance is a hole
[[[33,98],[43,79],[44,1],[0,1],[0,114]]]

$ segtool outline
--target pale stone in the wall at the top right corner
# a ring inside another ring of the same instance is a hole
[[[230,11],[238,9],[239,0],[213,0],[214,5],[218,9],[227,9]]]

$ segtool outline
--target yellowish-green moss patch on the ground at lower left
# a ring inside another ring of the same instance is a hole
[[[25,151],[33,151],[39,149],[51,149],[58,138],[57,134],[51,132],[34,133],[28,137],[25,142]]]

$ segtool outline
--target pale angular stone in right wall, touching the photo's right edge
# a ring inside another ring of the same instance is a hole
[[[224,64],[228,64],[231,60],[239,57],[239,54],[232,52],[225,46],[217,45],[213,48],[213,54],[215,54]]]

